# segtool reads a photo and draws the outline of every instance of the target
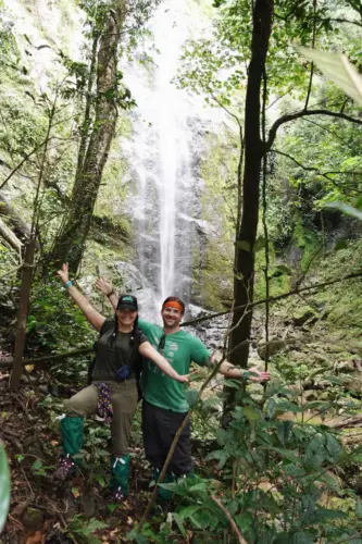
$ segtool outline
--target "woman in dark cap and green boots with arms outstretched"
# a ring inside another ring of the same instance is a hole
[[[130,458],[127,453],[132,421],[137,407],[137,378],[141,357],[151,359],[162,372],[177,382],[187,383],[137,329],[137,298],[122,295],[114,320],[107,320],[73,285],[67,263],[57,272],[68,294],[99,332],[96,360],[91,368],[91,384],[66,400],[66,416],[61,420],[64,457],[55,478],[64,481],[76,471],[73,457],[83,445],[83,418],[98,411],[111,423],[111,482],[114,498],[122,500],[128,492]]]

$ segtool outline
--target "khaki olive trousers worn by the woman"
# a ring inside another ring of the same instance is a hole
[[[128,450],[132,422],[137,409],[136,380],[125,382],[104,382],[111,391],[113,418],[111,422],[112,449],[114,456],[122,457]],[[98,382],[79,391],[72,398],[64,401],[68,416],[91,416],[98,406]],[[68,418],[76,419],[76,418]],[[72,452],[65,452],[72,455]]]

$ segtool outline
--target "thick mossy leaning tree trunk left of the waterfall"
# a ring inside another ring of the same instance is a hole
[[[72,272],[76,272],[83,257],[103,168],[114,137],[117,118],[117,46],[125,15],[126,0],[118,0],[115,10],[110,10],[99,40],[93,127],[84,160],[80,157],[78,161],[70,211],[52,251],[51,261],[55,265],[68,262]],[[84,149],[79,152],[84,154]]]

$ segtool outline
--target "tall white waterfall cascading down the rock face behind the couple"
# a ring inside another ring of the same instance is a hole
[[[195,30],[195,9],[191,1],[162,2],[150,22],[152,63],[142,62],[139,52],[124,67],[137,102],[130,113],[132,135],[123,140],[129,164],[123,183],[132,187],[127,208],[134,220],[136,260],[132,270],[126,263],[117,267],[137,289],[142,317],[153,321],[167,296],[190,301],[192,258],[208,228],[201,220],[200,161],[204,134],[219,131],[221,115],[207,109],[202,97],[172,83],[183,44],[191,26]]]

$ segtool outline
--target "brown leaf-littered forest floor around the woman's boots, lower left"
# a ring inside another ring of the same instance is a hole
[[[61,444],[59,424],[53,420],[55,412],[61,413],[61,403],[41,392],[46,379],[43,372],[32,375],[30,383],[12,393],[9,372],[0,371],[0,436],[12,474],[11,507],[0,543],[129,542],[126,535],[142,518],[152,492],[151,471],[138,447],[139,410],[130,448],[129,494],[122,505],[114,505],[107,485],[109,430],[99,421],[87,420],[85,468],[65,484],[54,481]],[[167,506],[157,502],[152,523],[162,522]]]

